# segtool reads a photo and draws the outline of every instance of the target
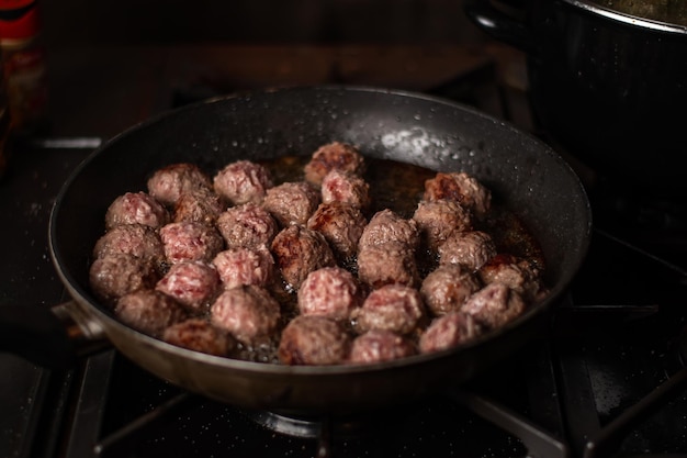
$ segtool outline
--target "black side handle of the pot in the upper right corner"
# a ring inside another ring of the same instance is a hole
[[[511,11],[521,7],[520,2],[506,0],[502,2],[508,3]],[[527,54],[537,54],[534,33],[525,21],[495,7],[491,0],[469,0],[463,11],[468,19],[489,36]]]

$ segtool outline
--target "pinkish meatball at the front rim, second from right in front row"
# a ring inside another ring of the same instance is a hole
[[[415,355],[415,345],[391,331],[372,329],[353,339],[350,362],[381,362]]]

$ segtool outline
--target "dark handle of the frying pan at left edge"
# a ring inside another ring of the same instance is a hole
[[[75,301],[0,306],[0,350],[47,369],[70,369],[79,356],[105,347],[105,334]]]

